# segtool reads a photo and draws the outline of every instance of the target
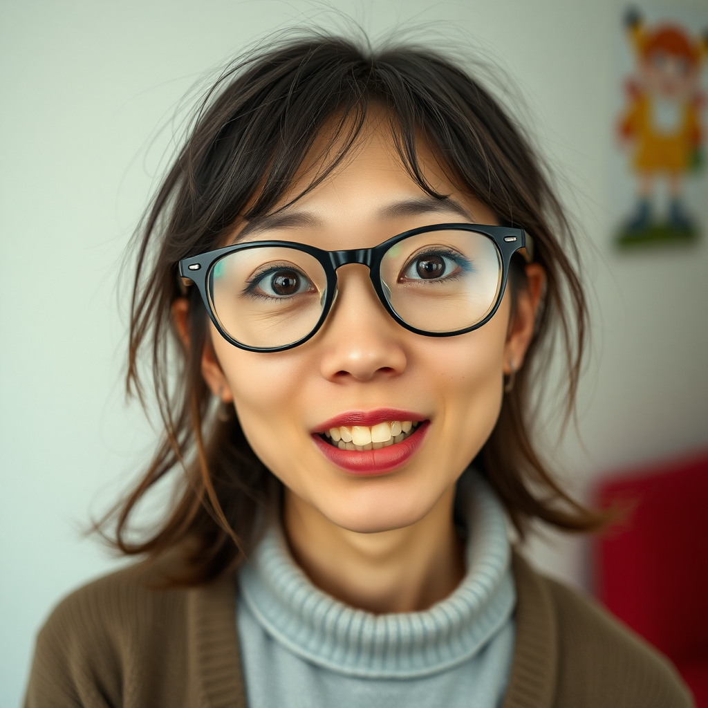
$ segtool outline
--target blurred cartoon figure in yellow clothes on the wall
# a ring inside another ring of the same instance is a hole
[[[695,38],[678,25],[648,28],[635,10],[627,13],[625,25],[636,57],[636,76],[627,84],[629,106],[620,119],[619,136],[633,149],[639,200],[623,235],[648,236],[657,228],[665,237],[693,234],[696,224],[681,193],[685,174],[702,163],[699,80],[708,55],[708,30]],[[652,213],[659,178],[668,183],[666,224],[658,224]]]

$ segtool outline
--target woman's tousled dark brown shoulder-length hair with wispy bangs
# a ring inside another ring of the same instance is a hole
[[[221,421],[214,414],[200,372],[203,347],[210,346],[207,316],[197,289],[185,292],[178,282],[176,265],[217,247],[236,219],[273,210],[314,139],[334,122],[329,148],[343,147],[307,190],[326,178],[355,144],[374,103],[387,109],[396,149],[421,188],[445,198],[418,169],[416,139],[422,136],[456,183],[501,223],[532,234],[535,260],[547,275],[525,365],[504,396],[476,464],[522,535],[532,518],[573,531],[602,521],[554,481],[530,430],[532,379],[539,384],[555,326],[566,356],[567,410],[572,409],[587,309],[568,219],[528,139],[490,93],[441,52],[400,44],[372,50],[366,42],[310,31],[261,45],[219,76],[137,232],[127,390],[145,404],[139,360],[146,351],[164,434],[139,484],[101,527],[115,523],[113,543],[125,554],[154,559],[188,548],[175,582],[203,583],[237,566],[258,538],[258,520],[278,507],[282,491],[246,442],[236,416]],[[512,295],[525,287],[520,256],[515,261]],[[171,305],[183,296],[188,348],[171,316]],[[139,501],[159,479],[180,471],[182,485],[169,514],[147,537],[131,541],[130,519]]]

